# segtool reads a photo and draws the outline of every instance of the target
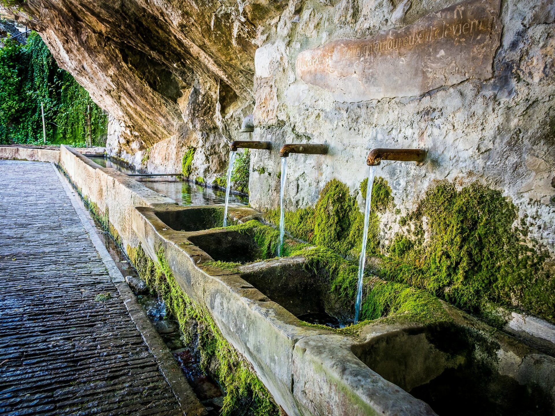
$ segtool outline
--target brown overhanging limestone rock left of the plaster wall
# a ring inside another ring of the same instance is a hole
[[[133,154],[188,140],[184,124],[229,139],[253,102],[256,29],[279,4],[29,0],[12,12],[118,120],[119,147]]]

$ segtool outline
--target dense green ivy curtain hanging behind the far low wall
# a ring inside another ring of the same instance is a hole
[[[107,115],[33,32],[0,49],[0,144],[43,144],[41,103],[48,144],[84,146],[90,105],[93,145],[105,145]]]

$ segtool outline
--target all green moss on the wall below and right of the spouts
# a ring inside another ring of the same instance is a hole
[[[366,185],[367,180],[361,183],[363,193]],[[549,254],[526,239],[524,224],[513,225],[516,207],[500,191],[479,182],[457,191],[452,183],[440,182],[414,212],[401,217],[404,230],[388,247],[380,247],[377,213],[395,206],[391,188],[381,177],[374,182],[371,204],[366,253],[381,257],[386,280],[420,288],[470,311],[480,312],[494,302],[555,321]],[[266,212],[265,218],[278,224],[279,211]],[[324,187],[315,208],[285,212],[287,232],[322,246],[312,255],[323,256],[319,260],[324,264],[336,264],[339,257],[355,260],[363,221],[355,197],[336,180]],[[331,252],[324,255],[323,247]],[[354,298],[357,266],[347,263],[350,266],[333,266],[329,272],[334,290]]]

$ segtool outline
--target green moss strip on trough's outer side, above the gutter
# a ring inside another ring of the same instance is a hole
[[[150,260],[140,246],[128,246],[127,252],[140,276],[163,298],[169,313],[177,319],[189,342],[194,336],[191,331],[196,329],[200,366],[203,371],[210,372],[226,392],[221,415],[244,414],[247,410],[244,403],[248,402],[248,414],[278,416],[278,406],[248,361],[226,341],[206,308],[181,290],[163,250],[157,251],[157,262]],[[197,324],[191,324],[193,322]]]

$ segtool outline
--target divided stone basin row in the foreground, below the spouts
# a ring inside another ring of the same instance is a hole
[[[356,336],[303,326],[306,313],[352,311],[304,258],[258,261],[250,235],[209,230],[215,209],[137,207],[133,230],[153,260],[163,250],[181,288],[290,416],[554,414],[555,359],[446,303],[451,320],[427,326],[377,319]],[[227,271],[209,263],[218,260],[245,264]]]

